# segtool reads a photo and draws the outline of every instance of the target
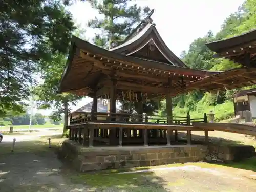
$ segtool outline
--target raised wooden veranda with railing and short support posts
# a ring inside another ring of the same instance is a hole
[[[116,120],[113,121],[112,119]],[[202,131],[191,123],[207,122],[202,118],[158,116],[146,114],[120,113],[83,113],[79,118],[71,119],[68,127],[69,139],[84,146],[96,145],[141,145],[177,144],[178,131],[187,131],[187,144],[191,144],[191,131]],[[114,134],[111,131],[115,131]],[[175,134],[173,133],[175,130]],[[115,141],[115,142],[113,142]],[[208,142],[208,132],[206,140]]]

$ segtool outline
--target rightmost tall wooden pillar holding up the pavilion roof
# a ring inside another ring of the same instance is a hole
[[[166,112],[167,112],[167,123],[172,124],[173,121],[173,104],[172,104],[172,97],[169,94],[170,90],[168,89],[168,94],[166,94]],[[167,145],[173,140],[173,130],[167,130]]]

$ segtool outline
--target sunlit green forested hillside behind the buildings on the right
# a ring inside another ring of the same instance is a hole
[[[256,24],[256,0],[247,0],[238,8],[238,11],[226,18],[221,26],[221,30],[216,34],[209,31],[204,37],[194,40],[187,52],[181,54],[181,59],[187,66],[194,69],[204,69],[211,71],[227,70],[237,67],[226,59],[212,58],[211,52],[206,46],[206,42],[225,39],[240,35],[255,28]],[[243,89],[250,89],[247,87]],[[185,115],[190,111],[192,117],[202,117],[203,113],[214,110],[217,120],[228,119],[234,114],[231,95],[239,90],[227,90],[217,95],[194,91],[186,95],[181,95],[173,99],[174,115]],[[163,106],[165,101],[162,101]],[[165,113],[163,110],[161,113]]]

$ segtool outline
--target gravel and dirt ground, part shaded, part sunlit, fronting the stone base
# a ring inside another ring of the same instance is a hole
[[[33,143],[35,144],[35,142]],[[5,144],[0,144],[1,192],[256,192],[256,180],[238,175],[237,169],[223,169],[218,166],[214,168],[173,167],[168,170],[155,170],[152,174],[139,173],[140,177],[133,177],[133,175],[126,177],[126,180],[122,182],[121,174],[115,173],[114,176],[114,173],[110,173],[109,176],[102,176],[100,180],[103,181],[104,178],[107,180],[106,178],[112,177],[112,182],[113,180],[116,181],[113,182],[115,186],[90,188],[84,185],[84,183],[90,185],[90,182],[86,180],[81,182],[83,184],[72,183],[73,180],[67,177],[71,173],[57,160],[57,155],[53,150],[39,152],[25,150],[3,155],[3,153],[1,154],[1,147],[3,147],[3,152]],[[91,179],[90,176],[87,178]],[[127,183],[124,184],[126,181]],[[104,184],[104,182],[102,183]]]

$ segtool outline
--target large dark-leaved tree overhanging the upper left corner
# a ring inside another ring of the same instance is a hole
[[[51,0],[3,0],[0,20],[0,116],[5,116],[24,112],[34,75],[46,63],[41,61],[67,53],[75,26],[64,4]]]

